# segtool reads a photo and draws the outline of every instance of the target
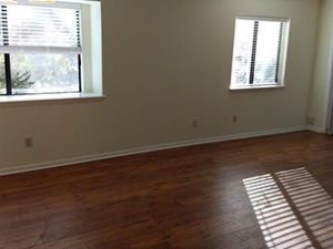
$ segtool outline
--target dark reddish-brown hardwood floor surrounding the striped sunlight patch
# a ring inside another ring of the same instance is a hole
[[[332,196],[333,137],[294,133],[0,177],[0,248],[268,248],[243,179],[301,167]]]

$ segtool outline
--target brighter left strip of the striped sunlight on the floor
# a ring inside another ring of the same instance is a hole
[[[271,175],[243,180],[270,249],[314,248]]]

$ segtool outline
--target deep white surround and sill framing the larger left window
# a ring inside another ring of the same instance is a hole
[[[18,4],[46,6],[18,0]],[[37,95],[1,95],[1,103],[21,103],[34,101],[61,101],[78,98],[104,97],[102,77],[102,17],[100,0],[58,0],[47,6],[57,8],[80,7],[81,10],[81,43],[82,74],[80,93],[37,94]]]

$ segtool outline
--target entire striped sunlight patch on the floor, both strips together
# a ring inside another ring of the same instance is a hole
[[[270,249],[333,249],[333,199],[305,168],[243,183]]]

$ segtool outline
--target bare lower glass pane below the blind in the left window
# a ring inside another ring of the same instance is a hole
[[[79,92],[79,58],[75,53],[11,54],[12,94]]]

